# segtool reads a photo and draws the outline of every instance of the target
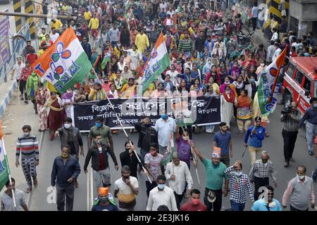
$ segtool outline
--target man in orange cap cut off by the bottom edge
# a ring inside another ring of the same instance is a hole
[[[108,188],[99,188],[98,198],[92,206],[92,211],[119,211],[118,206],[111,199]]]

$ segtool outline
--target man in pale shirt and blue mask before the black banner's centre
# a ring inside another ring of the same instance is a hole
[[[165,111],[161,112],[161,118],[156,120],[154,129],[158,133],[159,153],[164,155],[170,145],[170,134],[175,132],[176,123],[172,117],[168,117]]]

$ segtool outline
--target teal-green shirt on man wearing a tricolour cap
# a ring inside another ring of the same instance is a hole
[[[206,167],[206,188],[211,190],[221,190],[223,188],[223,179],[227,179],[225,169],[227,167],[220,162],[219,165],[213,165],[213,162],[204,158],[203,164]]]

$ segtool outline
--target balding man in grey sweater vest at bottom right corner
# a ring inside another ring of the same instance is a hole
[[[313,180],[306,176],[306,167],[297,167],[296,177],[288,182],[287,189],[282,197],[282,207],[287,207],[290,199],[290,211],[308,211],[309,203],[315,208],[315,194],[313,193]]]

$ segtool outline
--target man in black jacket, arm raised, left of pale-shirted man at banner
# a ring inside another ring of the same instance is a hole
[[[140,148],[142,164],[144,164],[144,157],[149,153],[150,143],[156,143],[159,146],[158,135],[156,130],[151,127],[151,120],[149,117],[140,120],[135,124],[135,129],[139,131],[139,141],[137,147]]]

